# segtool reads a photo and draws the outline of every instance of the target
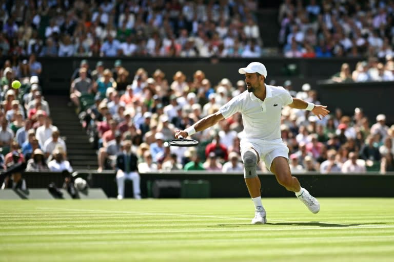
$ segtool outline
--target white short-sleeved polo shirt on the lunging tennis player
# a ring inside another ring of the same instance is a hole
[[[282,86],[265,85],[264,101],[245,91],[223,105],[219,112],[229,118],[241,112],[244,122],[244,138],[274,140],[281,138],[282,106],[291,104],[293,98]]]

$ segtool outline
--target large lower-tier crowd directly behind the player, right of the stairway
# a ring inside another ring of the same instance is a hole
[[[96,137],[99,170],[115,168],[116,155],[122,152],[125,140],[131,141],[131,150],[138,158],[138,170],[142,173],[174,169],[242,170],[240,114],[193,135],[200,141],[197,148],[170,147],[167,141],[173,139],[176,129],[190,126],[244,92],[243,80],[233,84],[224,78],[219,83],[211,83],[202,70],[188,78],[181,71],[166,77],[160,69],[149,74],[140,68],[129,78],[130,84],[121,84],[125,87],[122,90],[117,88],[122,81],[117,82],[115,78],[120,80],[120,74],[128,77],[130,73],[122,67],[121,60],[115,61],[113,69],[104,69],[99,61],[91,72],[92,78],[98,76],[95,81],[86,80],[85,67],[83,61],[78,69],[82,77],[75,79],[72,86],[75,90],[75,86],[82,86],[83,82],[85,89],[77,92],[90,99],[94,97],[92,106],[84,108],[80,117],[91,136]],[[102,75],[97,75],[98,72]],[[308,83],[300,92],[292,90],[290,81],[283,86],[294,97],[320,104],[318,93]],[[74,96],[72,93],[71,97]],[[336,108],[332,115],[319,120],[308,111],[285,107],[281,130],[283,141],[290,149],[290,166],[294,173],[394,170],[394,126],[386,126],[383,114],[378,115],[375,122],[365,117],[361,108],[355,108],[350,116]],[[259,165],[261,171],[267,172],[264,163]]]

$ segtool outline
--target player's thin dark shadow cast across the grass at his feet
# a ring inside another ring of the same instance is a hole
[[[328,222],[281,222],[281,223],[267,223],[267,224],[257,224],[257,225],[270,225],[270,226],[316,226],[316,227],[354,227],[354,226],[364,226],[364,225],[380,225],[387,223],[351,223],[351,224],[336,224]],[[251,224],[218,224],[215,226],[208,227],[241,227],[241,226],[252,226]],[[254,226],[254,225],[253,225]]]

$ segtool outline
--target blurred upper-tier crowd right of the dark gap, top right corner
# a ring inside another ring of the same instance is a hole
[[[285,0],[279,41],[285,57],[393,55],[394,2]]]

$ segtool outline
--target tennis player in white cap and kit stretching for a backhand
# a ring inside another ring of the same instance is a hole
[[[187,137],[202,131],[219,121],[241,112],[245,136],[241,138],[241,157],[244,162],[244,178],[255,207],[252,224],[265,224],[266,211],[261,202],[261,183],[257,176],[257,164],[262,159],[275,175],[279,184],[293,191],[312,213],[320,210],[319,202],[300,186],[291,176],[288,163],[289,149],[281,138],[281,111],[288,105],[292,108],[311,111],[319,119],[330,112],[327,106],[315,105],[292,98],[282,86],[268,85],[264,81],[267,70],[264,64],[252,62],[238,70],[245,74],[247,91],[233,97],[214,114],[208,115],[185,130],[177,130],[175,138]]]

